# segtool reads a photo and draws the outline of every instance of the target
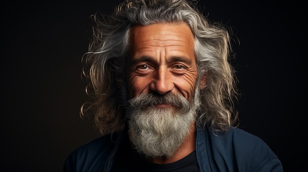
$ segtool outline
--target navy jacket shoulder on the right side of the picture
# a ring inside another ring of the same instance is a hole
[[[215,133],[207,128],[204,134],[211,166],[219,171],[282,172],[276,154],[251,133],[240,128]]]

